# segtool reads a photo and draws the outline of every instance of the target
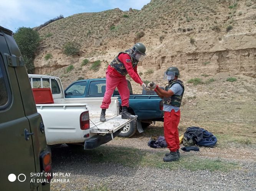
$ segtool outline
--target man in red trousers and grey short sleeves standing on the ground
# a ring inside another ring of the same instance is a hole
[[[166,153],[165,162],[172,162],[180,158],[180,140],[178,123],[180,122],[180,105],[184,93],[183,82],[178,79],[180,72],[176,67],[168,68],[164,73],[164,79],[168,80],[165,89],[161,89],[156,83],[148,84],[150,89],[163,99],[164,102],[164,137],[170,153]]]

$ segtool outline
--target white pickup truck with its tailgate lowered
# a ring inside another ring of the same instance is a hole
[[[122,119],[119,115],[117,97],[112,97],[106,111],[106,121],[100,122],[102,97],[64,98],[63,87],[58,77],[37,74],[28,76],[34,97],[44,99],[46,95],[40,94],[40,89],[43,88],[41,90],[48,89],[53,98],[54,103],[36,104],[37,111],[43,118],[48,145],[83,144],[85,150],[94,149],[111,141],[127,123],[137,117],[130,120]]]

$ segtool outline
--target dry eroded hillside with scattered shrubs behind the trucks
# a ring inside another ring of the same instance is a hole
[[[116,8],[69,16],[39,33],[35,72],[55,74],[64,83],[104,77],[116,53],[135,42],[147,47],[138,68],[143,80],[162,78],[170,66],[180,68],[182,76],[256,77],[256,0],[152,0],[140,11]],[[64,55],[66,42],[79,43],[80,52]],[[84,59],[89,63],[81,65]]]

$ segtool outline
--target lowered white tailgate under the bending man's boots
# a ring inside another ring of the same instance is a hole
[[[135,118],[137,118],[137,115],[135,115]],[[110,118],[106,118],[105,122],[100,122],[99,116],[90,116],[90,132],[115,133],[119,129],[123,128],[127,123],[130,123],[130,121],[135,120],[135,118],[122,119],[121,115],[117,115]]]

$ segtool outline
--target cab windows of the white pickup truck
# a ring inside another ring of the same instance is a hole
[[[42,78],[43,88],[50,88],[50,79]],[[41,88],[41,78],[33,78],[33,88]],[[52,94],[60,94],[60,89],[56,79],[51,78],[51,91]]]

